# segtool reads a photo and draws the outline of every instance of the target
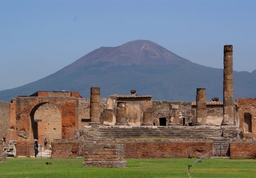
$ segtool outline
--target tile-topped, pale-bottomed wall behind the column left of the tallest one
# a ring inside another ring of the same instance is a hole
[[[196,121],[196,105],[192,105],[192,125]],[[207,105],[206,123],[208,125],[220,126],[223,121],[223,105]]]

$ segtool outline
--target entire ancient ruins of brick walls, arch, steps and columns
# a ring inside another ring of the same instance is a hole
[[[205,88],[197,88],[196,102],[180,102],[153,101],[152,95],[138,95],[136,90],[100,98],[104,88],[98,87],[92,87],[87,98],[74,91],[37,91],[0,101],[0,137],[9,143],[0,150],[7,156],[33,157],[34,139],[43,144],[47,138],[52,158],[85,157],[85,166],[122,167],[126,165],[123,154],[126,158],[188,158],[214,150],[207,157],[237,158],[232,153],[241,139],[247,139],[244,149],[252,158],[256,99],[233,101],[232,50],[232,45],[224,46],[223,102],[218,98],[207,102]],[[88,151],[101,154],[103,148],[122,148],[117,151],[122,154],[99,160]],[[99,164],[106,160],[121,162]]]

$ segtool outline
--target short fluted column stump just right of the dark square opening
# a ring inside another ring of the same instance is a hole
[[[179,102],[169,103],[170,122],[168,123],[168,125],[170,126],[180,126],[179,105]]]

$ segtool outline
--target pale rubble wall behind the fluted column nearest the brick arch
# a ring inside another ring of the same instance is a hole
[[[103,109],[106,109],[106,98],[100,99],[100,115],[103,113]],[[90,99],[80,98],[78,99],[78,127],[83,129],[89,125],[90,119]]]

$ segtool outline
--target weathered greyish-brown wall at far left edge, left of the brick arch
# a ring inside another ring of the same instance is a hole
[[[0,139],[9,135],[10,103],[0,101]]]

